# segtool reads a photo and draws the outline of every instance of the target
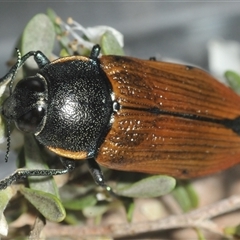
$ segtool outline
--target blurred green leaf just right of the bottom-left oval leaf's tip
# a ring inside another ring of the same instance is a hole
[[[79,197],[79,199],[76,200],[63,202],[63,206],[68,210],[82,210],[86,207],[94,206],[96,203],[96,197],[94,195],[88,195],[85,197]]]

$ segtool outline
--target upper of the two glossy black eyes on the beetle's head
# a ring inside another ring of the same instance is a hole
[[[19,81],[16,86],[18,89],[31,89],[33,92],[44,92],[45,86],[39,76],[28,77]]]

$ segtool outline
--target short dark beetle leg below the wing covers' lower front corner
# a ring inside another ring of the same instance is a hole
[[[87,159],[89,171],[95,181],[95,183],[103,188],[105,188],[113,197],[117,197],[116,194],[112,191],[112,188],[109,187],[104,180],[104,176],[101,168],[97,164],[94,158]]]

